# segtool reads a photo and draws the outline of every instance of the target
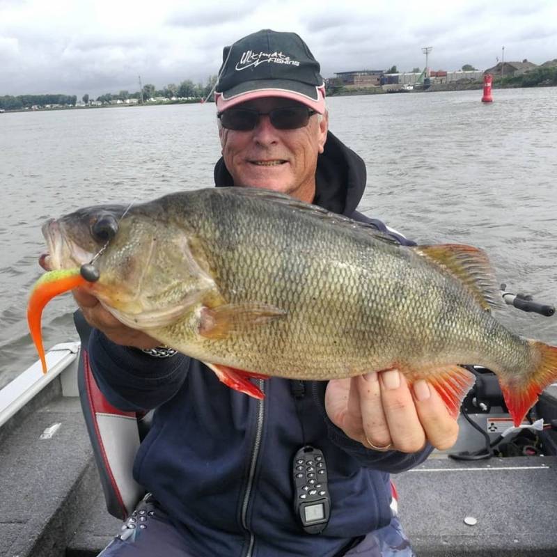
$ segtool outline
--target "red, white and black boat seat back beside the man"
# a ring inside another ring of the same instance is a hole
[[[150,427],[151,413],[125,412],[113,407],[97,386],[89,363],[88,341],[91,326],[81,310],[74,313],[81,339],[78,387],[93,455],[100,475],[108,512],[126,519],[145,494],[132,476],[135,455]]]

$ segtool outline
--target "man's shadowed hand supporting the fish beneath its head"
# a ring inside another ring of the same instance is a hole
[[[154,348],[160,344],[147,334],[120,323],[89,292],[81,288],[76,288],[72,292],[88,324],[102,331],[113,343],[136,348]]]

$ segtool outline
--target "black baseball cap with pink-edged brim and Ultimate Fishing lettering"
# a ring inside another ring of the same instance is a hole
[[[247,100],[283,97],[325,111],[320,65],[296,33],[262,29],[224,47],[214,89],[222,112]]]

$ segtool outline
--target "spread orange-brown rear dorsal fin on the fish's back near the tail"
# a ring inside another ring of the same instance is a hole
[[[412,247],[458,278],[485,310],[501,308],[501,294],[485,251],[464,244]]]

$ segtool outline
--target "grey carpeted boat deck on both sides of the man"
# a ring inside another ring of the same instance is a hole
[[[120,521],[104,508],[79,400],[54,381],[16,418],[0,430],[0,556],[97,555]],[[557,555],[556,456],[431,458],[393,478],[418,557]]]

